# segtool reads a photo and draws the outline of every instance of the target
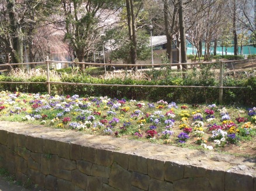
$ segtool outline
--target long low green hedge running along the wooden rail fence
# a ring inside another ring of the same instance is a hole
[[[160,86],[219,86],[219,79],[216,76],[219,65],[210,63],[200,65],[199,68],[193,67],[182,77],[179,70],[168,68],[158,68],[147,70],[144,78],[133,79],[130,76],[112,77],[103,79],[96,74],[105,72],[103,67],[89,68],[85,72],[72,69],[58,70],[60,82],[71,83],[92,83],[92,84],[124,84],[124,85],[160,85]],[[62,71],[65,71],[62,73]],[[89,75],[90,74],[90,75]],[[102,74],[102,73],[101,73]],[[103,74],[102,74],[103,75]],[[125,74],[124,74],[125,75]],[[2,82],[23,82],[17,76],[1,75]],[[54,79],[51,79],[54,80]],[[32,76],[26,79],[27,82],[46,82],[45,76]],[[247,87],[245,89],[223,89],[223,102],[225,104],[254,105],[256,104],[256,79],[255,77],[240,76],[235,78],[233,75],[225,75],[223,85],[227,87]],[[45,84],[0,84],[0,91],[20,91],[28,93],[46,93]],[[145,94],[145,92],[147,92]],[[116,98],[129,98],[136,100],[158,101],[164,97],[167,101],[178,101],[193,103],[218,102],[219,89],[205,87],[127,87],[127,86],[83,86],[83,85],[64,85],[51,84],[51,94],[79,94],[83,96],[105,96]]]

